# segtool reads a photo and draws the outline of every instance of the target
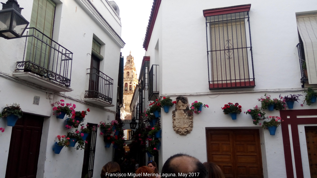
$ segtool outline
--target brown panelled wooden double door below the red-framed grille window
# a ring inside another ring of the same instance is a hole
[[[208,129],[207,156],[226,178],[263,177],[259,130]]]

